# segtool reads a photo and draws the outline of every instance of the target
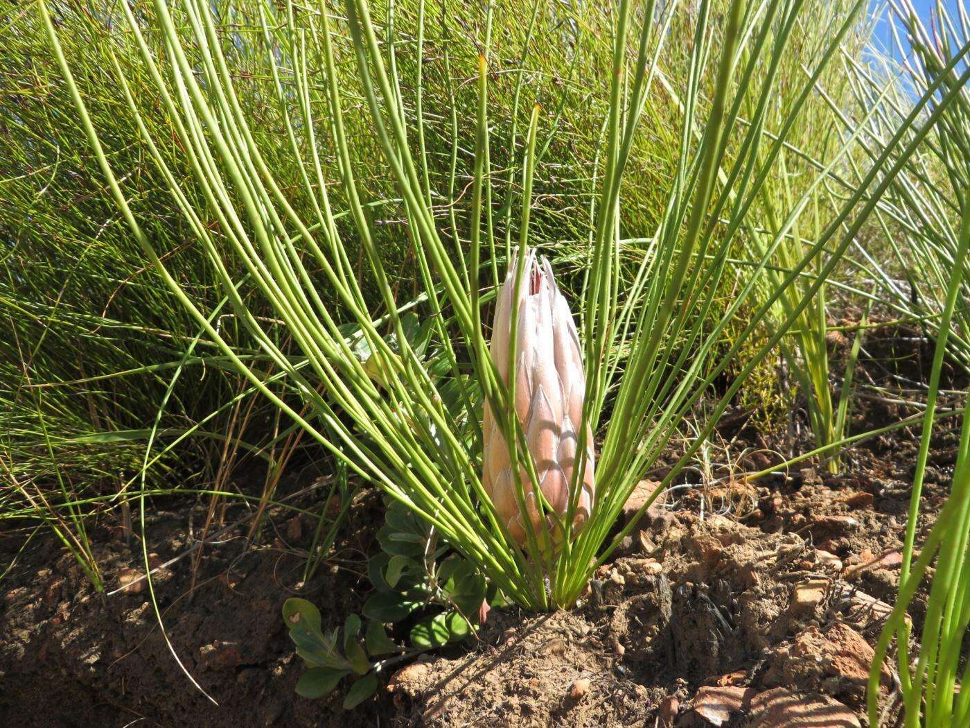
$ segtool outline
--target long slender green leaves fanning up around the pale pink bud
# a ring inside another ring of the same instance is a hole
[[[501,422],[510,451],[516,453],[532,480],[535,470],[523,447],[518,422],[507,416],[508,393],[497,377],[482,327],[482,310],[490,299],[493,277],[509,259],[511,249],[521,253],[527,245],[540,248],[542,243],[533,239],[530,225],[533,188],[540,182],[535,176],[536,149],[544,119],[538,105],[530,117],[522,175],[516,181],[521,184],[517,233],[507,242],[501,241],[492,224],[494,211],[487,192],[495,183],[495,171],[488,160],[490,130],[496,120],[489,115],[490,32],[501,5],[489,4],[480,17],[467,18],[468,32],[481,51],[478,67],[468,70],[477,85],[477,119],[473,144],[466,148],[473,149],[468,189],[456,190],[454,198],[447,200],[449,208],[462,205],[464,219],[464,233],[455,232],[451,240],[442,236],[433,204],[434,194],[440,191],[431,189],[421,172],[427,164],[416,140],[422,119],[414,118],[409,113],[414,107],[403,103],[405,88],[420,96],[421,86],[400,77],[394,55],[389,54],[393,47],[387,43],[390,23],[381,37],[365,0],[348,0],[345,18],[333,15],[325,4],[298,8],[287,3],[278,14],[273,9],[264,11],[265,51],[287,76],[285,83],[282,73],[277,77],[277,100],[292,118],[292,131],[288,130],[282,144],[299,160],[303,170],[300,188],[316,202],[307,218],[296,213],[263,154],[265,146],[273,147],[278,140],[270,143],[251,134],[248,118],[254,110],[236,93],[225,63],[227,46],[234,41],[231,34],[227,37],[218,32],[219,18],[213,17],[210,6],[199,0],[178,5],[154,0],[150,11],[140,9],[137,16],[127,4],[120,6],[123,17],[119,22],[143,50],[142,62],[154,80],[172,133],[184,149],[194,182],[205,196],[205,208],[184,195],[182,182],[171,174],[159,152],[161,140],[141,123],[124,69],[115,66],[114,77],[128,110],[140,121],[139,144],[165,176],[194,242],[206,250],[218,272],[229,305],[306,403],[298,411],[221,338],[190,292],[167,271],[150,230],[129,206],[123,181],[72,82],[70,62],[57,49],[57,33],[47,7],[43,0],[39,3],[85,134],[121,215],[144,248],[146,260],[158,268],[209,339],[255,388],[350,471],[379,485],[426,519],[508,599],[534,610],[567,608],[576,602],[598,564],[629,532],[631,526],[606,543],[636,482],[678,433],[697,400],[709,394],[712,382],[741,346],[734,343],[712,356],[728,322],[751,300],[758,280],[756,275],[746,282],[724,309],[715,307],[720,301],[716,292],[726,270],[728,249],[748,220],[761,185],[775,170],[792,124],[825,64],[837,53],[865,3],[858,0],[853,12],[831,33],[815,68],[809,69],[799,86],[788,116],[768,137],[766,110],[773,98],[777,67],[785,57],[802,5],[800,0],[732,3],[724,17],[715,17],[708,2],[696,9],[647,2],[633,13],[630,2],[623,0],[610,9],[615,23],[610,104],[604,120],[602,169],[591,189],[588,282],[581,321],[588,377],[584,418],[598,424],[607,402],[610,416],[601,431],[592,516],[580,533],[571,533],[575,504],[570,504],[559,526],[564,531],[563,546],[550,552],[538,549],[534,534],[521,548],[508,538],[479,479],[481,401],[485,397]],[[393,10],[389,7],[382,17],[393,18]],[[617,276],[621,182],[641,113],[655,88],[659,50],[674,17],[689,18],[694,30],[676,173],[669,183],[663,216],[652,231],[653,246],[640,262],[633,282],[621,288]],[[343,31],[349,34],[349,41]],[[148,52],[147,32],[164,39],[163,57]],[[395,33],[401,32],[395,25]],[[420,33],[419,21],[413,36]],[[357,70],[372,133],[400,197],[398,213],[404,216],[405,234],[417,262],[423,297],[420,310],[433,321],[433,344],[424,353],[412,346],[404,331],[402,304],[389,283],[380,250],[373,244],[372,218],[360,195],[358,170],[351,164],[349,149],[354,141],[344,126],[345,107],[353,100],[351,89],[339,83],[337,70],[344,63]],[[756,69],[760,70],[757,86],[752,83]],[[706,118],[699,119],[701,134],[696,138],[697,99],[708,75],[712,78],[710,109]],[[752,94],[754,113],[742,124],[740,110]],[[739,341],[761,325],[792,281],[827,249],[818,278],[807,287],[805,297],[779,322],[711,408],[709,420],[698,428],[698,437],[663,485],[689,462],[747,374],[808,306],[810,296],[850,246],[902,166],[901,160],[920,144],[950,100],[948,95],[925,114],[925,101],[916,105],[844,200],[838,215],[820,230],[812,246],[804,248],[782,284],[755,307]],[[850,138],[845,144],[851,143]],[[731,155],[728,148],[734,149]],[[336,180],[324,175],[323,149],[337,156]],[[839,155],[835,155],[815,184],[823,183],[838,161]],[[719,182],[721,174],[724,182]],[[332,190],[339,190],[339,195]],[[756,274],[789,233],[813,191],[814,186],[809,185],[788,211],[756,266]],[[338,222],[338,204],[345,213],[340,220],[345,219],[346,224]],[[349,254],[351,242],[362,250],[375,300],[365,297],[358,281]],[[519,259],[523,257],[520,254]],[[261,299],[269,302],[299,356],[286,355],[266,335],[264,324],[251,314],[247,300],[239,294],[240,274],[236,271],[244,271]],[[321,291],[339,300],[346,322],[354,327],[352,336],[325,305]],[[713,325],[712,315],[716,316]],[[358,339],[367,344],[365,361],[358,355],[360,349],[351,347]],[[629,342],[622,357],[617,346],[621,341]],[[582,443],[579,451],[583,451]],[[575,472],[582,470],[577,467]],[[513,472],[518,469],[513,467]],[[533,490],[538,490],[534,482]],[[518,492],[521,498],[521,482]]]

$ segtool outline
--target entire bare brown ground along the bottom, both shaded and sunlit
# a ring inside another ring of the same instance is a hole
[[[876,380],[881,361],[866,360]],[[907,414],[886,407],[857,413],[856,431]],[[921,534],[949,491],[953,426],[934,444]],[[732,447],[762,445],[742,432]],[[52,538],[22,548],[22,534],[0,533],[0,556],[16,555],[0,590],[0,725],[865,725],[871,645],[898,582],[916,447],[903,430],[853,450],[842,477],[806,467],[676,489],[600,568],[578,609],[493,610],[476,644],[407,665],[351,712],[336,695],[295,695],[302,668],[279,610],[300,593],[329,626],[359,611],[379,522],[373,493],[355,504],[329,570],[308,584],[312,528],[286,513],[270,514],[263,546],[246,545],[242,524],[207,546],[197,574],[189,555],[156,575],[172,648],[218,706],[178,667],[144,581],[101,599]],[[184,554],[204,513],[186,501],[155,504],[152,560]],[[242,513],[233,507],[224,520]],[[107,525],[92,541],[109,590],[141,574],[137,541]],[[919,599],[911,615],[919,627]],[[887,672],[889,715],[895,684]]]

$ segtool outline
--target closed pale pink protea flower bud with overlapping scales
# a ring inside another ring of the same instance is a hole
[[[492,357],[501,380],[508,385],[508,350],[511,336],[513,296],[518,299],[518,329],[515,347],[515,412],[522,423],[529,451],[535,462],[539,487],[552,511],[565,515],[569,504],[569,484],[576,464],[578,432],[583,417],[586,377],[579,351],[576,325],[566,298],[556,285],[549,261],[536,261],[529,252],[526,268],[515,287],[513,259],[499,290],[492,328]],[[482,455],[483,485],[496,511],[519,544],[526,541],[524,514],[515,497],[508,447],[501,430],[485,403]],[[593,505],[593,432],[586,428],[586,466],[580,481],[573,529],[578,530],[589,517]],[[551,523],[540,523],[532,480],[519,468],[525,492],[527,517],[536,535]],[[553,534],[556,538],[556,534]],[[544,543],[547,543],[543,539]]]

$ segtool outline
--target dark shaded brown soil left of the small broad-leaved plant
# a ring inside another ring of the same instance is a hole
[[[371,493],[351,517],[373,522],[377,506]],[[244,513],[230,508],[225,522]],[[140,544],[133,539],[129,546],[118,529],[104,527],[90,535],[106,590],[129,584],[104,598],[51,538],[36,539],[16,557],[0,592],[0,725],[347,725],[346,714],[295,695],[301,670],[280,608],[299,592],[320,606],[330,627],[359,611],[366,587],[355,568],[370,547],[367,530],[353,531],[327,573],[303,586],[299,547],[312,539],[306,516],[271,513],[266,546],[246,546],[248,523],[221,533],[193,575],[189,525],[197,530],[205,516],[203,506],[177,501],[174,510],[149,516],[146,540],[153,566],[182,556],[154,573],[155,598],[172,649],[218,705],[178,667],[146,582],[129,583],[144,574]],[[4,560],[19,542],[0,539]],[[343,563],[351,568],[338,568]],[[351,724],[374,725],[383,713],[383,703],[372,701]]]

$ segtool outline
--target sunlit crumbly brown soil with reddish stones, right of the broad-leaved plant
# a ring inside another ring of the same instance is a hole
[[[582,609],[490,614],[477,649],[414,663],[389,689],[415,725],[865,724],[904,492],[794,483],[750,524],[656,508]],[[882,690],[891,715],[889,669]]]

